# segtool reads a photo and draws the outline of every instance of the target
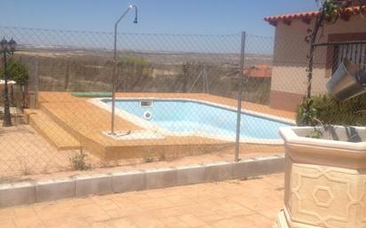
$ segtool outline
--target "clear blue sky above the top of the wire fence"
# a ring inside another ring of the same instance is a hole
[[[139,7],[119,32],[274,35],[268,15],[313,11],[315,0],[1,0],[1,27],[112,32],[129,4]]]

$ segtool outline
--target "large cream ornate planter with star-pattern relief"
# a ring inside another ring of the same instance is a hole
[[[366,129],[335,126],[327,139],[306,138],[312,130],[280,130],[285,196],[275,226],[366,227]]]

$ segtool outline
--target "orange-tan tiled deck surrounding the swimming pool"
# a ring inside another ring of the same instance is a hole
[[[187,98],[225,106],[235,107],[237,105],[235,99],[200,93],[117,93],[116,98]],[[110,113],[91,104],[88,102],[89,99],[91,98],[76,98],[69,92],[40,92],[39,108],[76,138],[85,149],[107,160],[143,157],[145,155],[160,156],[162,153],[165,156],[173,153],[175,156],[177,153],[195,155],[234,146],[232,142],[196,136],[166,136],[163,139],[117,141],[101,134],[102,131],[110,130]],[[271,114],[291,120],[295,118],[293,113],[271,109],[268,106],[249,102],[243,102],[242,106],[243,109],[262,114]],[[132,122],[115,116],[115,130],[133,131],[141,130],[141,128]],[[267,145],[261,146],[266,147]],[[279,146],[269,146],[271,150],[275,150],[276,147]]]

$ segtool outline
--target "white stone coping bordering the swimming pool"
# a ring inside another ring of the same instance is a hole
[[[103,100],[106,100],[106,99],[111,99],[111,98],[90,98],[90,99],[87,99],[87,102],[91,103],[94,106],[98,106],[98,107],[100,107],[100,108],[102,108],[102,109],[104,109],[104,110],[106,110],[107,112],[110,113],[111,112],[111,107],[107,106],[107,104],[105,102],[103,102]],[[210,105],[210,106],[219,106],[221,108],[226,108],[228,110],[232,110],[232,111],[236,112],[235,106],[227,106],[227,105],[223,105],[223,104],[219,104],[219,103],[215,103],[215,102],[211,102],[211,101],[207,101],[207,100],[203,100],[203,99],[195,99],[195,98],[157,98],[157,97],[116,98],[116,100],[131,100],[131,99],[140,99],[140,100],[147,100],[147,99],[185,100],[185,101],[193,101],[193,102],[203,103],[203,104]],[[290,124],[290,125],[296,124],[296,122],[294,122],[293,120],[290,120],[288,118],[283,118],[283,117],[275,116],[275,115],[272,115],[272,114],[263,114],[263,113],[259,113],[259,112],[256,112],[256,111],[251,111],[251,110],[248,110],[248,109],[243,109],[242,108],[241,113],[242,114],[250,114],[250,115],[254,115],[254,116],[259,116],[261,118],[274,120],[276,122],[283,122],[283,123],[287,123],[287,124]],[[171,132],[169,130],[165,130],[165,129],[159,127],[157,124],[147,122],[147,121],[143,120],[142,118],[140,118],[140,117],[138,117],[134,114],[130,114],[130,113],[128,113],[126,111],[123,111],[123,110],[115,109],[115,114],[118,115],[119,117],[123,118],[123,120],[125,120],[125,121],[135,123],[136,125],[138,125],[140,128],[142,128],[144,130],[147,130],[147,131],[150,131],[150,132],[156,132],[160,135],[173,136],[173,137],[195,136],[195,137],[203,137],[203,138],[224,140],[224,141],[227,141],[227,142],[235,142],[235,138],[233,138],[233,137],[218,136],[218,135],[215,135],[215,134],[208,134],[208,133],[197,132],[197,131],[195,131],[194,133]],[[106,134],[106,132],[102,132],[102,133],[107,135],[107,137],[114,138],[115,140],[123,140],[123,138],[120,138],[118,136],[108,135],[108,134]],[[145,139],[145,138],[140,138],[140,139]],[[264,144],[264,145],[283,145],[282,138],[279,138],[279,139],[241,138],[240,142],[241,143]]]

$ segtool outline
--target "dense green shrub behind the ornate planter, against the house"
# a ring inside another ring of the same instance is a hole
[[[297,109],[299,126],[322,124],[364,126],[366,94],[340,102],[327,95],[305,99]]]

